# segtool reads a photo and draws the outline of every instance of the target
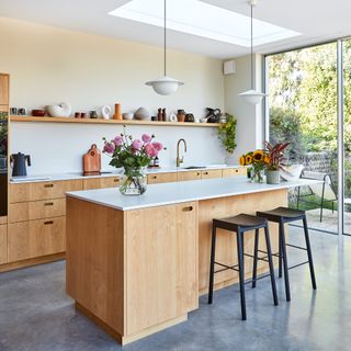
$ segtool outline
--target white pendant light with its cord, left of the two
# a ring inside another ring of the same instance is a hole
[[[176,92],[179,86],[183,86],[184,83],[167,76],[167,7],[165,0],[165,18],[163,18],[163,76],[151,81],[147,81],[146,86],[150,86],[154,90],[160,95],[170,95],[171,93]]]

